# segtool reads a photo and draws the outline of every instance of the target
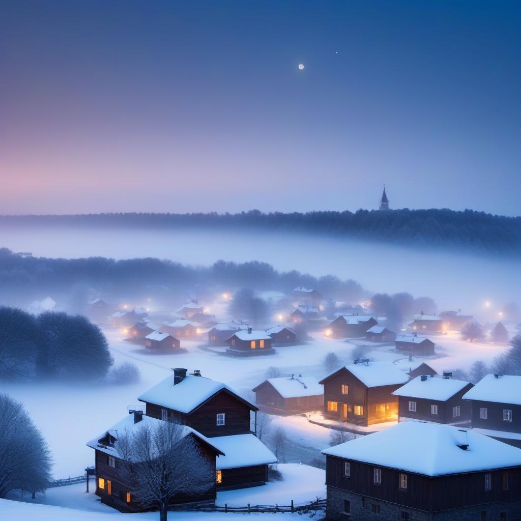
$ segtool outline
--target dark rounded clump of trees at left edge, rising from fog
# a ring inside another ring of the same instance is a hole
[[[0,306],[0,381],[100,381],[112,363],[104,334],[87,318]]]

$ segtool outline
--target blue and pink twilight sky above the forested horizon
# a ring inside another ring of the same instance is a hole
[[[520,24],[501,0],[0,0],[0,214],[356,210],[386,183],[519,215]]]

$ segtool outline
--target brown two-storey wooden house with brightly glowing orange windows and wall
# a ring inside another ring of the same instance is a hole
[[[392,393],[409,380],[390,362],[346,365],[327,376],[324,417],[367,427],[398,420],[398,396]]]

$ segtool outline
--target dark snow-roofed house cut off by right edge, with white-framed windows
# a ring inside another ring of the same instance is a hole
[[[521,448],[521,376],[487,375],[463,395],[472,429]]]

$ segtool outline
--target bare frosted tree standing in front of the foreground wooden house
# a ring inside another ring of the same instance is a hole
[[[212,463],[187,427],[161,421],[125,433],[117,442],[131,492],[157,506],[166,521],[168,504],[178,494],[199,495],[215,487]]]

